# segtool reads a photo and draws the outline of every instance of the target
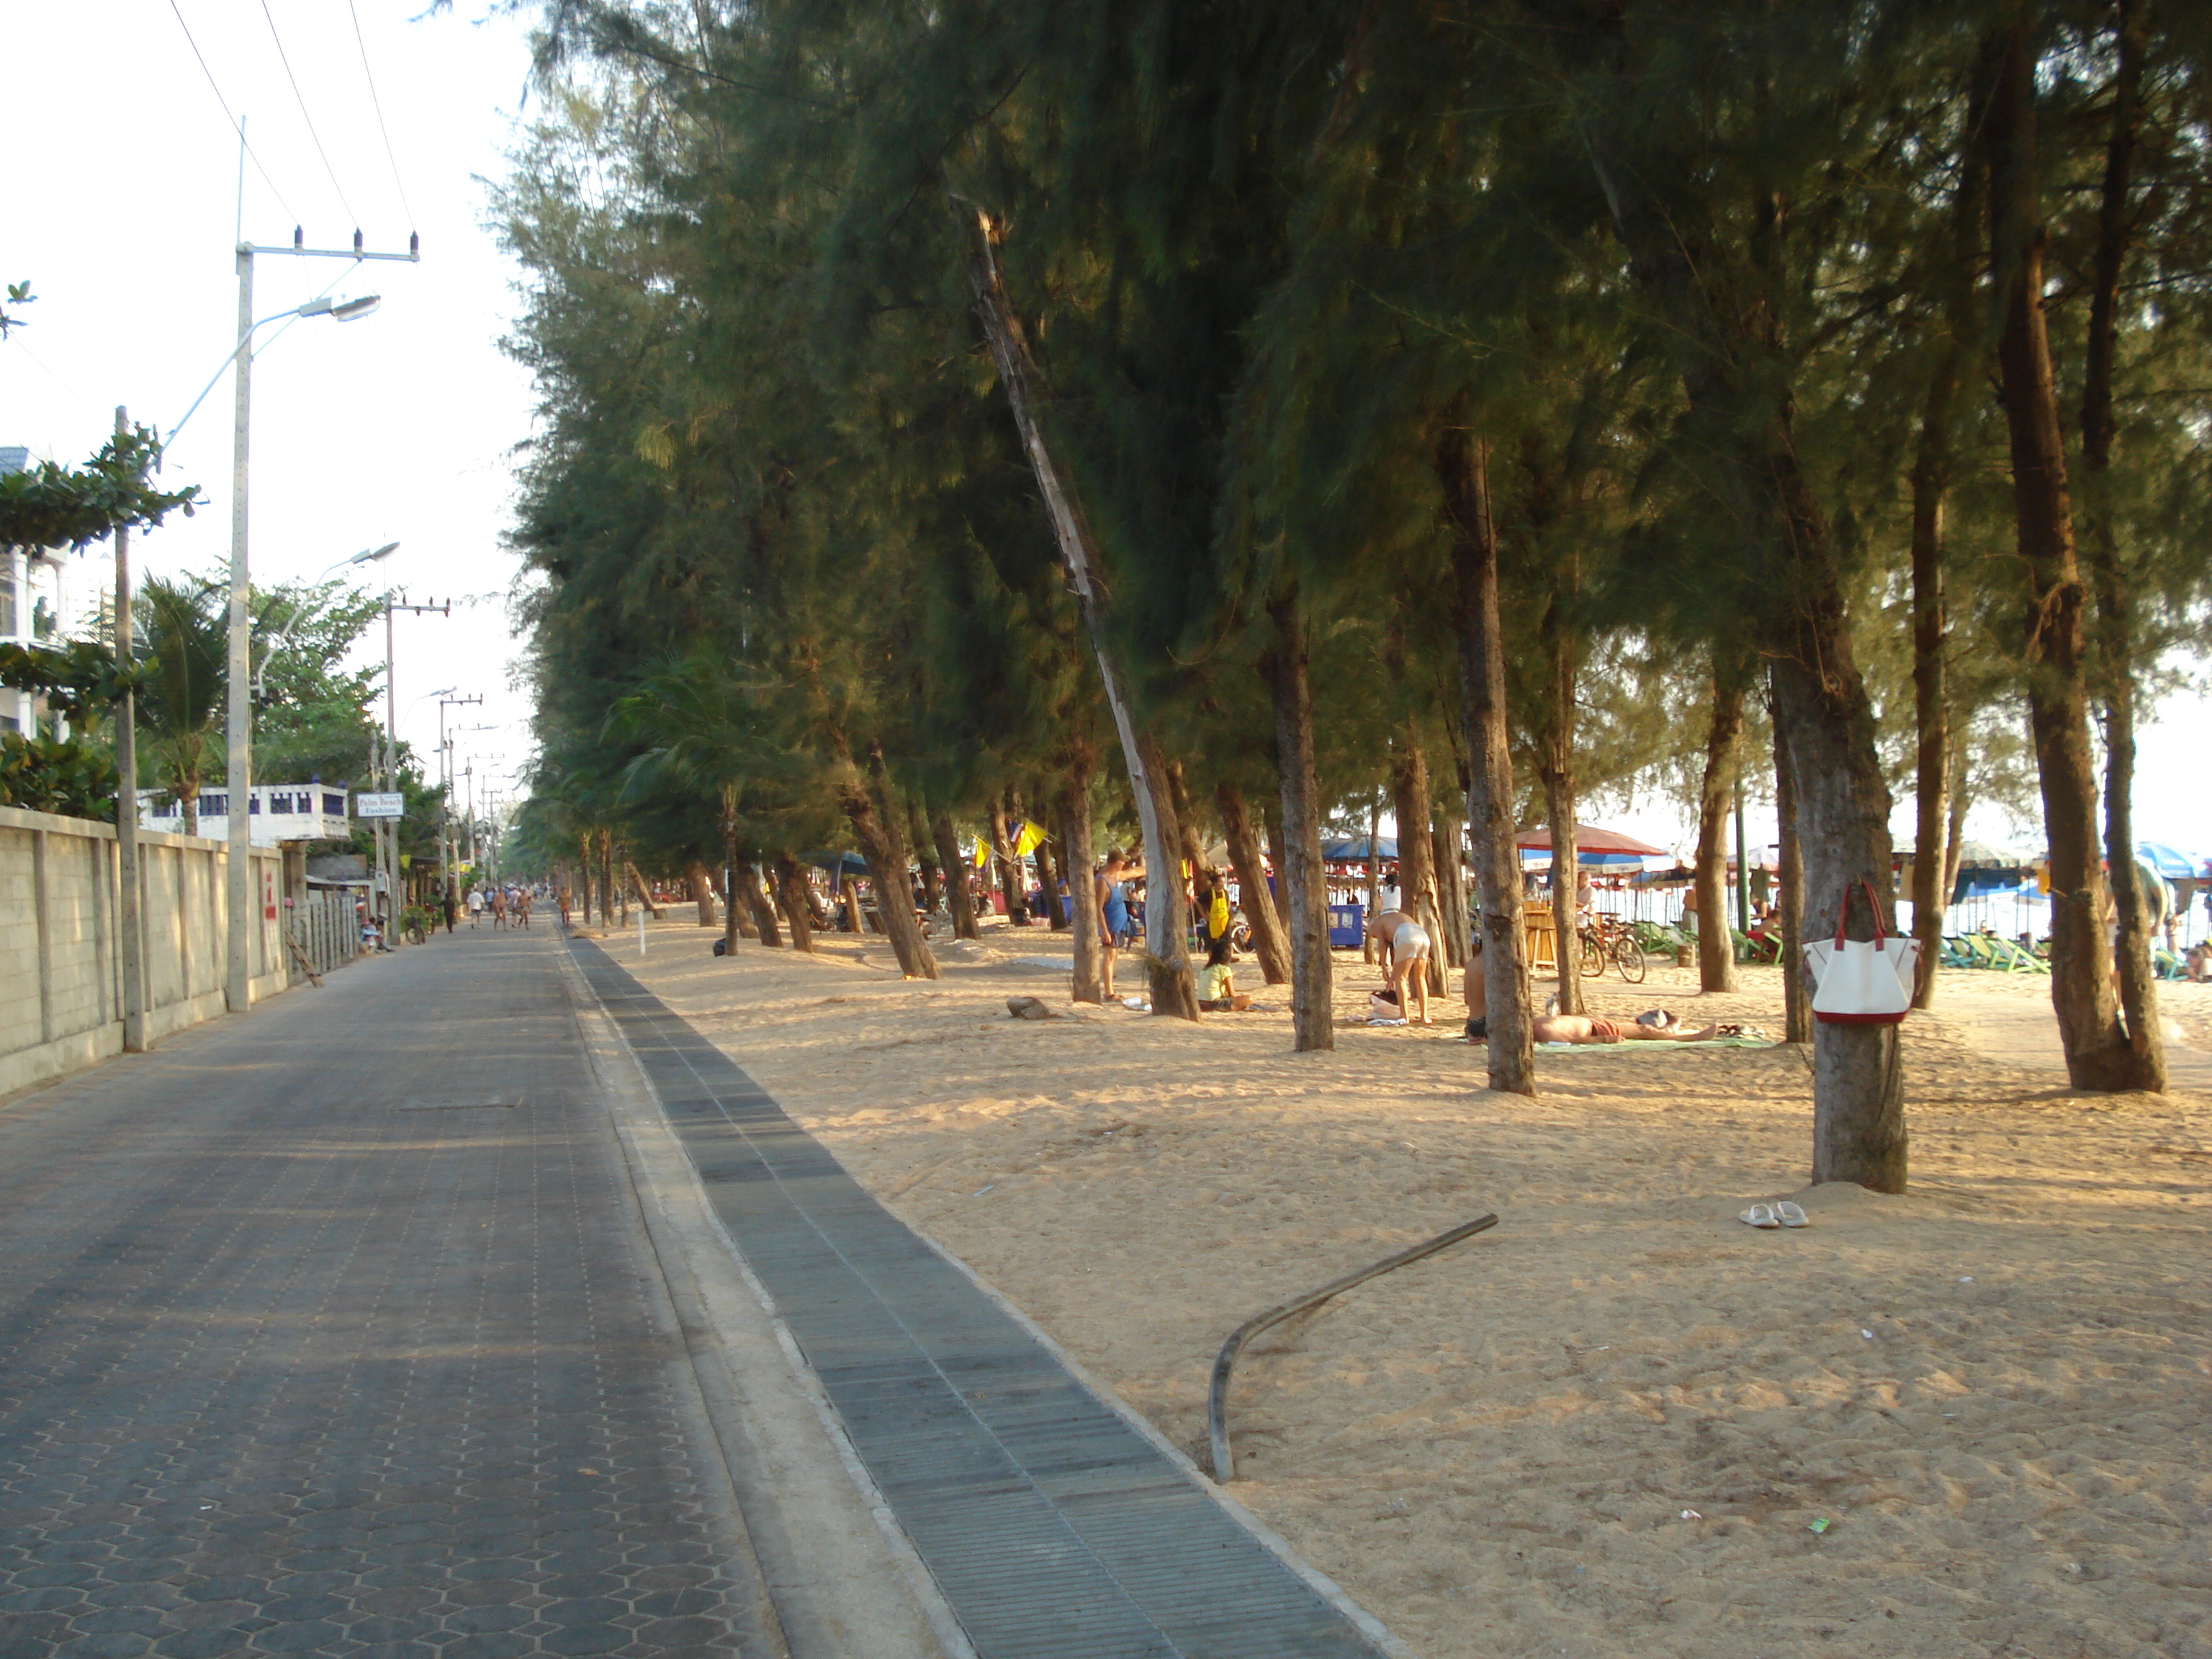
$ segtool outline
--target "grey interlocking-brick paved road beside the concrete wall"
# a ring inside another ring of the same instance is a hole
[[[781,1650],[555,951],[0,1106],[0,1659]]]

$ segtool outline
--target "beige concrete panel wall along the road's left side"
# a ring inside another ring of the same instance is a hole
[[[252,849],[252,995],[290,984],[276,847]],[[146,1040],[223,1011],[223,843],[139,832]],[[268,916],[274,909],[276,916]],[[122,1053],[115,825],[0,807],[0,1093]]]

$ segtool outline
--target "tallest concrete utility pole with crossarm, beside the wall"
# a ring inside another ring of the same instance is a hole
[[[243,142],[243,139],[241,139]],[[352,248],[310,248],[305,234],[299,226],[292,228],[290,248],[261,248],[250,241],[239,241],[239,349],[234,352],[239,365],[239,380],[230,416],[230,710],[226,721],[226,754],[223,774],[230,790],[230,825],[228,825],[228,852],[223,854],[226,880],[226,938],[223,938],[223,1002],[232,1013],[246,1013],[252,1002],[252,956],[250,956],[250,916],[252,916],[252,821],[248,818],[248,796],[252,792],[252,743],[254,743],[254,703],[252,703],[252,577],[246,560],[246,491],[252,478],[250,465],[250,438],[252,438],[252,407],[254,407],[254,254],[292,254],[296,259],[352,259],[354,263],[365,263],[369,259],[403,261],[409,265],[422,263],[422,239],[409,237],[405,254],[372,254],[361,246],[361,232],[354,232]],[[369,307],[374,310],[374,305]],[[305,310],[301,310],[305,314]],[[323,301],[323,312],[327,316],[349,314],[345,307],[332,307]],[[358,314],[358,312],[352,312]],[[197,405],[195,405],[197,407]],[[186,411],[186,420],[190,411]],[[181,420],[177,422],[184,425]],[[175,436],[175,434],[173,434]]]

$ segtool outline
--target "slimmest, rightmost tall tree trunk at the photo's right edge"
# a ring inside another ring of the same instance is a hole
[[[2097,272],[2090,288],[2088,349],[2081,376],[2081,473],[2088,502],[2084,555],[2097,593],[2097,657],[2104,681],[2104,867],[2119,911],[2119,1009],[2128,1033],[2128,1082],[2166,1091],[2166,1040],[2159,1031],[2159,984],[2150,964],[2150,902],[2135,860],[2135,595],[2112,524],[2108,473],[2112,356],[2119,345],[2119,276],[2132,237],[2128,197],[2135,135],[2143,122],[2143,51],[2150,0],[2117,0],[2119,55],[2112,71],[2112,135],[2104,153],[2097,201]]]

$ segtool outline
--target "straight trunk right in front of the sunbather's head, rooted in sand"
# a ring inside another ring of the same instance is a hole
[[[1478,445],[1458,416],[1438,440],[1436,471],[1451,526],[1451,619],[1460,635],[1467,825],[1475,847],[1482,971],[1491,1000],[1491,1088],[1533,1095],[1528,947],[1522,933],[1520,854],[1513,847],[1506,655],[1498,622],[1498,524],[1491,518],[1489,447]]]

